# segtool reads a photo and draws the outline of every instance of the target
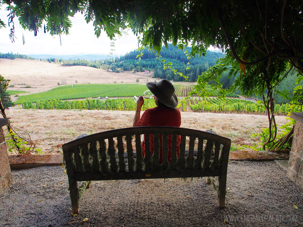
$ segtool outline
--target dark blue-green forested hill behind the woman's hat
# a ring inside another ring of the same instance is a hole
[[[162,58],[159,60],[155,57],[152,51],[147,48],[142,51],[141,60],[138,61],[137,55],[140,52],[134,50],[130,53],[121,56],[120,58],[116,57],[111,60],[103,60],[103,61],[88,61],[83,59],[78,60],[63,60],[63,59],[48,59],[50,62],[61,62],[62,65],[83,65],[95,68],[108,69],[113,72],[120,71],[137,71],[144,72],[146,70],[153,71],[154,77],[161,79],[173,79],[174,81],[182,81],[184,78],[181,78],[179,75],[175,75],[171,70],[164,70],[163,65],[161,64],[161,60],[164,59],[165,62],[171,62],[172,68],[182,72],[184,75],[188,76],[191,81],[196,81],[198,79],[198,75],[202,72],[206,71],[209,67],[213,66],[217,58],[222,58],[224,55],[218,52],[207,51],[205,57],[198,57],[188,59],[185,55],[185,51],[190,52],[191,48],[188,47],[186,49],[178,49],[174,46],[168,46],[162,48],[160,51],[160,55]],[[188,64],[189,63],[189,64]],[[190,66],[188,70],[186,70],[187,66]]]

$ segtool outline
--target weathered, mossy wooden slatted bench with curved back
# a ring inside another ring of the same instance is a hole
[[[142,157],[140,136],[154,134],[154,153],[145,140]],[[159,164],[159,135],[163,138],[163,162]],[[168,135],[172,135],[171,164]],[[180,158],[176,155],[181,135]],[[231,140],[212,133],[177,127],[131,127],[92,134],[62,145],[72,210],[94,180],[186,178],[218,176],[218,206],[225,206],[228,156]],[[186,150],[188,149],[188,150]],[[82,181],[80,187],[77,182]],[[211,180],[212,182],[213,180]]]

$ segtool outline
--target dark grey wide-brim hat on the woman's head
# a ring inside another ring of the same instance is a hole
[[[164,105],[172,108],[178,105],[175,87],[170,81],[148,82],[146,86]]]

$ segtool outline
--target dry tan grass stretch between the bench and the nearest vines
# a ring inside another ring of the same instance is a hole
[[[44,154],[62,153],[61,146],[82,133],[98,133],[132,127],[135,111],[111,110],[7,110],[14,127],[30,133]],[[278,125],[285,117],[276,117]],[[181,127],[208,130],[232,140],[232,149],[239,145],[253,145],[251,133],[267,126],[267,117],[245,114],[181,112]],[[7,131],[7,130],[5,130]],[[21,133],[21,132],[20,132]]]

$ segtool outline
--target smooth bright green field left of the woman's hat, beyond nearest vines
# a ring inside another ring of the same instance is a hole
[[[81,99],[89,97],[132,97],[143,95],[148,90],[145,84],[75,84],[56,87],[51,90],[20,96],[15,104],[53,99]]]

